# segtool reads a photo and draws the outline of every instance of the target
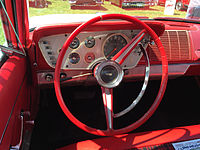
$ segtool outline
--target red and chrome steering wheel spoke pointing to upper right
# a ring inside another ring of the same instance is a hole
[[[146,30],[145,29],[141,30],[124,48],[122,48],[112,58],[112,60],[121,65],[145,35],[146,35]]]

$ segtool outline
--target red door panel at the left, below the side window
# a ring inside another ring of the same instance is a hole
[[[13,139],[14,144],[19,141],[17,120],[27,109],[28,91],[26,58],[12,56],[0,68],[0,150],[9,149]]]

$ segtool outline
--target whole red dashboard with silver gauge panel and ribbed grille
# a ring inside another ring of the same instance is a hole
[[[186,74],[199,74],[195,70],[199,65],[198,24],[179,23],[173,21],[144,21],[160,37],[169,62],[169,77]],[[35,72],[35,80],[39,85],[53,83],[54,69],[59,52],[64,42],[81,23],[54,24],[38,27],[31,36],[35,43],[29,55]],[[111,59],[132,38],[141,31],[140,27],[125,21],[103,21],[92,25],[81,32],[66,50],[62,62],[61,74],[64,77],[76,76],[91,72],[93,67],[106,59]],[[162,65],[158,48],[145,35],[141,40],[147,50],[151,63],[151,77],[162,74]],[[141,50],[136,47],[122,67],[126,71],[125,79],[144,77],[145,61]],[[89,83],[94,77],[84,77],[71,82]]]

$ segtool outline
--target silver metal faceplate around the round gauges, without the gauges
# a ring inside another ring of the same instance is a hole
[[[111,30],[111,31],[95,31],[95,32],[81,32],[79,35],[77,35],[77,38],[80,41],[80,45],[77,49],[71,49],[70,47],[68,48],[68,50],[66,51],[66,54],[64,56],[63,62],[62,62],[62,67],[61,69],[63,70],[91,70],[91,66],[94,66],[94,63],[96,63],[96,59],[106,59],[104,52],[103,52],[103,46],[106,42],[106,40],[113,35],[121,35],[123,36],[127,42],[130,41],[130,39],[132,38],[132,36],[134,34],[137,34],[139,32],[139,30]],[[47,50],[45,49],[45,45],[42,44],[43,41],[47,41],[47,43],[50,43],[49,46],[51,47],[52,52],[54,53],[54,57],[55,60],[57,61],[58,58],[58,51],[62,48],[64,42],[66,41],[66,39],[69,37],[70,33],[63,33],[63,34],[56,34],[56,35],[50,35],[50,36],[45,36],[42,37],[39,42],[39,48],[41,50],[41,53],[45,59],[45,61],[47,62],[47,64],[51,67],[51,68],[55,68],[55,65],[53,65],[53,62],[49,59],[49,55],[47,54]],[[67,36],[66,36],[67,35]],[[85,39],[89,36],[93,36],[95,38],[95,45],[92,48],[87,48],[85,46]],[[46,44],[48,46],[48,44]],[[68,56],[73,53],[76,52],[80,55],[80,61],[77,64],[70,64],[69,60],[68,60]],[[85,55],[88,52],[93,52],[95,55],[95,60],[91,63],[86,62],[85,60]],[[133,52],[134,53],[134,52]],[[131,54],[134,55],[134,54]],[[131,57],[131,56],[130,56]],[[139,61],[140,58],[142,56],[134,56],[137,57],[137,60]],[[136,62],[131,62],[132,60],[135,60],[136,58],[132,59],[132,58],[128,58],[128,60],[123,64],[123,69],[130,69],[133,68],[138,61]],[[130,63],[131,62],[131,63]],[[131,66],[126,66],[126,64],[133,64]],[[55,62],[54,62],[55,64]],[[66,67],[68,66],[68,67]]]

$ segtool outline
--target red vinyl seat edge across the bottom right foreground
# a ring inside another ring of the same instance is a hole
[[[57,150],[133,149],[198,138],[200,138],[200,125],[194,125],[87,140]]]

